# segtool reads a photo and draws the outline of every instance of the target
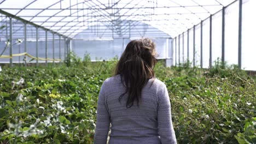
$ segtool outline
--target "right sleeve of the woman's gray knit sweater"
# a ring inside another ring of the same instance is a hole
[[[158,92],[158,133],[162,144],[176,142],[171,117],[171,103],[166,86],[161,87]]]

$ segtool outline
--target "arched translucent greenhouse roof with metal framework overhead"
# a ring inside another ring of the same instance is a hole
[[[69,38],[95,25],[104,25],[122,37],[138,23],[176,37],[234,1],[2,0],[0,9]]]

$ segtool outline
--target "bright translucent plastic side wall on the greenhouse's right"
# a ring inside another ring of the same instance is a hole
[[[256,70],[254,64],[256,49],[253,37],[256,33],[256,23],[252,18],[256,14],[256,1],[241,1],[241,11],[239,2],[232,2],[228,7],[174,38],[174,64],[181,64],[183,57],[188,57],[189,62],[202,68],[210,68],[211,65],[223,61],[228,65],[236,64],[241,69]],[[241,25],[239,25],[239,14],[241,14]],[[239,26],[241,26],[240,34]],[[186,49],[189,51],[188,55],[186,55]]]

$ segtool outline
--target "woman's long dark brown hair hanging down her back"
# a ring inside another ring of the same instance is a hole
[[[132,40],[127,44],[125,51],[115,68],[115,75],[121,77],[125,92],[120,95],[119,102],[127,93],[126,107],[129,108],[141,100],[142,88],[149,79],[154,79],[153,68],[156,63],[155,43],[148,39]]]

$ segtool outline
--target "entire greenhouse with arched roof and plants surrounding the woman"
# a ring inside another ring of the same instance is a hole
[[[102,83],[149,38],[177,143],[256,143],[255,6],[0,0],[0,142],[94,143]]]

